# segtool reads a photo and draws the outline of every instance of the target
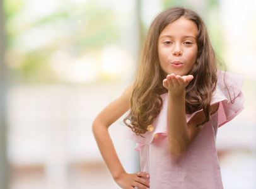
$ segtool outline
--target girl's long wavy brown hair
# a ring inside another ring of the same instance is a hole
[[[167,91],[163,87],[165,76],[158,57],[158,39],[167,25],[181,17],[193,21],[198,28],[197,59],[189,72],[194,79],[185,88],[185,113],[191,114],[202,109],[206,120],[199,125],[204,125],[211,118],[210,103],[212,92],[216,88],[217,66],[206,26],[192,10],[170,8],[154,18],[141,50],[141,60],[131,95],[131,110],[124,118],[125,125],[137,135],[147,131],[148,125],[154,122],[162,109],[163,100],[160,95]]]

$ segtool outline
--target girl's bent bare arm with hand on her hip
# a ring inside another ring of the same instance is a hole
[[[142,177],[149,178],[149,176],[147,177],[148,174],[143,172],[127,174],[125,172],[108,132],[108,127],[130,109],[131,91],[132,84],[117,100],[110,103],[98,114],[93,122],[93,134],[102,157],[117,184],[122,188],[132,189],[138,186],[146,189],[149,182]]]

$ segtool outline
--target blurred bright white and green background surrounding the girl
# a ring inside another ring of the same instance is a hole
[[[245,110],[218,131],[224,188],[256,188],[256,3],[253,0],[1,0],[0,188],[119,188],[91,132],[132,82],[153,18],[194,9],[228,71],[245,75]],[[122,117],[123,118],[123,117]],[[124,168],[134,142],[110,134]]]

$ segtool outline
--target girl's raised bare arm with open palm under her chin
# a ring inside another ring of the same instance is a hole
[[[198,112],[187,123],[185,117],[185,87],[193,79],[193,76],[175,76],[170,74],[163,81],[163,85],[168,89],[168,146],[170,154],[179,156],[185,152],[195,137],[202,130],[202,127],[196,125],[205,120],[203,112]],[[218,104],[212,105],[211,113],[216,112]]]

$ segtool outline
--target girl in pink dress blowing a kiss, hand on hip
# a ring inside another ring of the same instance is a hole
[[[216,133],[243,110],[242,83],[243,76],[216,69],[206,26],[194,11],[160,13],[149,28],[135,81],[93,122],[117,185],[223,188]],[[128,110],[124,136],[137,142],[141,155],[141,172],[134,174],[125,172],[108,134]]]

